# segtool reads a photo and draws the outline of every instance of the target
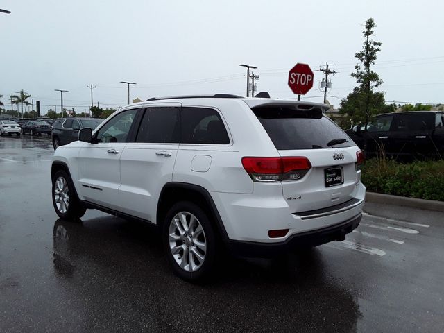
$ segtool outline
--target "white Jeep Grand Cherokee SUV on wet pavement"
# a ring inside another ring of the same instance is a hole
[[[204,278],[221,247],[268,257],[343,240],[361,219],[364,156],[325,110],[224,94],[128,105],[58,147],[54,208],[158,225],[185,280]]]

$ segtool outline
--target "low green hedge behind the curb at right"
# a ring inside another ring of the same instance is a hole
[[[367,160],[362,167],[367,191],[444,201],[444,160],[401,164],[394,160]]]

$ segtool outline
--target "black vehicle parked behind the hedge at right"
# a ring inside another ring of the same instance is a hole
[[[397,160],[444,158],[444,112],[412,111],[379,114],[370,119],[367,131],[359,124],[345,131],[367,156],[385,153]]]

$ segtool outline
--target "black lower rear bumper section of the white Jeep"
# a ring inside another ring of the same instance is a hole
[[[243,257],[273,257],[292,252],[298,248],[318,246],[330,241],[343,241],[345,234],[349,234],[357,228],[362,214],[347,221],[330,225],[325,228],[292,234],[285,241],[278,243],[259,243],[255,241],[227,240],[226,245],[233,255]]]

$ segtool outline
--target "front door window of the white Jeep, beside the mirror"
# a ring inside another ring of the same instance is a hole
[[[139,109],[131,109],[120,112],[97,132],[96,139],[99,142],[126,142],[130,128],[136,118]]]

